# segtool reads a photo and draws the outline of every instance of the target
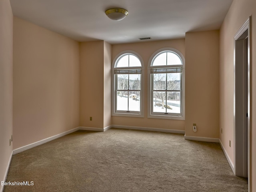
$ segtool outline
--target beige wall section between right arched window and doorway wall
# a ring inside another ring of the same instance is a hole
[[[185,82],[186,136],[219,138],[218,30],[186,33]]]

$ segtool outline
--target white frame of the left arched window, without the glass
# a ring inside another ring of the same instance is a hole
[[[134,69],[138,67],[116,67],[116,63],[118,62],[119,58],[126,55],[126,54],[132,54],[136,56],[140,60],[141,64],[141,76],[140,76],[140,112],[127,112],[127,111],[120,111],[116,110],[116,75],[114,74],[115,69]],[[126,50],[123,52],[120,52],[113,60],[112,62],[112,116],[126,116],[126,117],[144,117],[144,63],[141,58],[141,56],[131,50]]]

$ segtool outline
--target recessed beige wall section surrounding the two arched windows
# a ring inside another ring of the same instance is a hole
[[[131,44],[116,44],[112,45],[112,61],[120,52],[125,50],[132,50],[138,53],[144,62],[144,118],[134,118],[134,117],[118,117],[112,116],[112,125],[122,125],[122,126],[137,126],[146,128],[162,128],[162,129],[172,129],[172,130],[185,130],[184,120],[166,120],[166,119],[154,119],[147,118],[148,116],[148,75],[147,66],[148,61],[152,54],[157,50],[165,47],[171,47],[179,50],[183,56],[185,56],[185,40],[164,40],[164,41],[153,41],[153,42],[140,42]]]

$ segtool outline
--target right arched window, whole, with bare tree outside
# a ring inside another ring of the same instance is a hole
[[[173,48],[158,50],[150,58],[148,75],[148,117],[184,120],[184,56]]]

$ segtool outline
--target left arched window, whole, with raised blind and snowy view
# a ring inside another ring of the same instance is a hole
[[[143,117],[142,59],[132,51],[120,53],[112,64],[112,115]]]

